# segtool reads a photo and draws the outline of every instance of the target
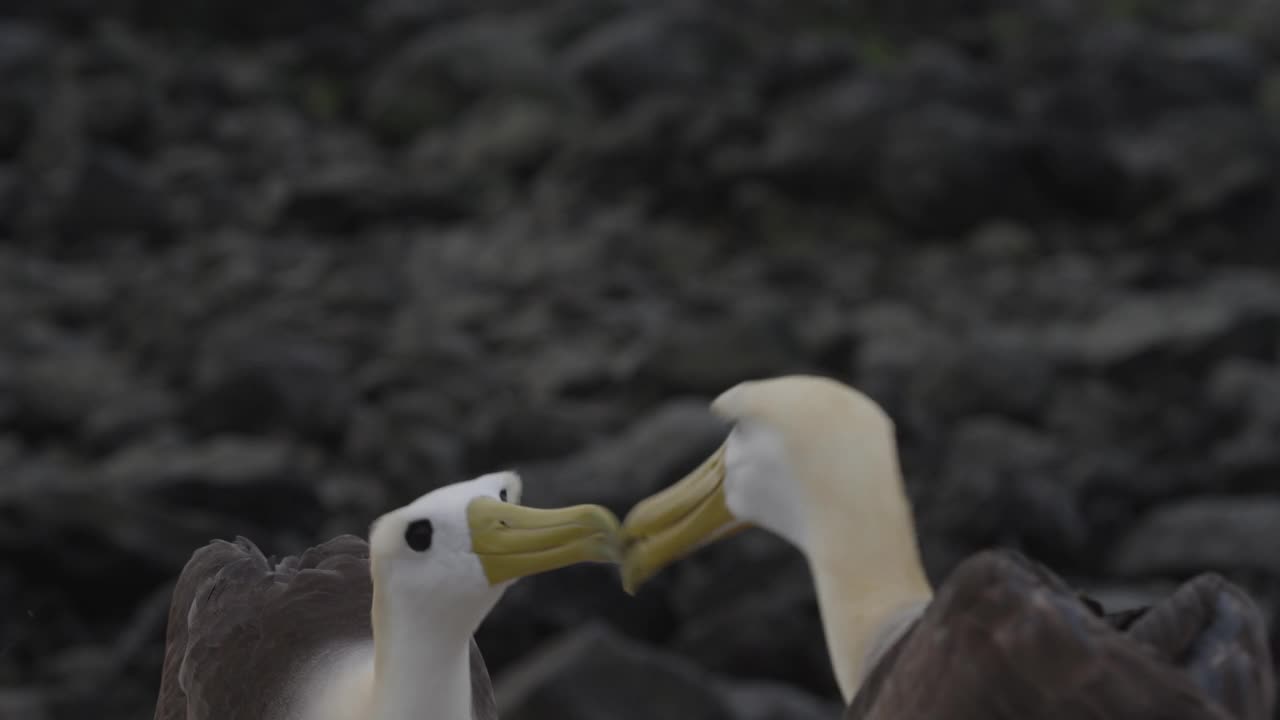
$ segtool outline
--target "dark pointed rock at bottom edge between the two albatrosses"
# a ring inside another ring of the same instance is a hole
[[[733,717],[712,676],[598,623],[548,642],[498,678],[494,692],[511,720]]]

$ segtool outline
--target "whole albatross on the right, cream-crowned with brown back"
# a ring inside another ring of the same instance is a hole
[[[625,518],[623,587],[737,530],[776,533],[809,565],[845,717],[1271,719],[1262,615],[1220,575],[1107,614],[1020,552],[984,550],[934,588],[873,400],[787,375],[712,410],[732,423],[724,443]]]

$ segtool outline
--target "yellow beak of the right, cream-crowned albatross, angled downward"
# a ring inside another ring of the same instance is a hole
[[[667,489],[649,496],[627,512],[622,537],[622,588],[636,588],[658,570],[704,544],[750,527],[724,503],[724,446],[696,470]]]

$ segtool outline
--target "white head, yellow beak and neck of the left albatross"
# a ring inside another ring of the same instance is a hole
[[[521,489],[516,473],[492,473],[372,523],[370,682],[365,692],[321,692],[316,717],[472,717],[471,637],[507,588],[579,562],[620,561],[618,520],[608,509],[526,507]]]

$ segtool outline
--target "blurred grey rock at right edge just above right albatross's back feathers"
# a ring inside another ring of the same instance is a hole
[[[1120,538],[1108,562],[1125,578],[1208,570],[1280,577],[1280,498],[1196,497],[1152,509]]]

